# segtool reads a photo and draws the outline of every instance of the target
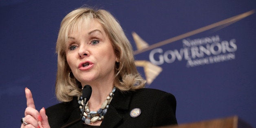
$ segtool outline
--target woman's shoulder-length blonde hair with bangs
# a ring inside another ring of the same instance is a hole
[[[68,13],[61,22],[56,44],[58,54],[55,93],[61,102],[69,102],[81,95],[81,83],[70,77],[71,68],[66,61],[66,42],[69,33],[81,29],[82,24],[98,20],[107,33],[120,62],[115,65],[114,85],[121,91],[143,88],[146,81],[138,73],[133,57],[132,46],[118,21],[106,10],[79,8]]]

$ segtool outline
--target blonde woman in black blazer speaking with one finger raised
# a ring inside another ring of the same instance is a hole
[[[27,108],[21,127],[154,127],[177,124],[175,97],[144,88],[132,47],[117,20],[105,10],[80,8],[62,20],[56,44],[55,93],[62,102],[40,112],[25,89]],[[82,88],[92,94],[84,106]],[[46,116],[47,115],[47,116]]]

